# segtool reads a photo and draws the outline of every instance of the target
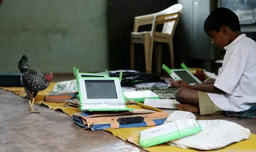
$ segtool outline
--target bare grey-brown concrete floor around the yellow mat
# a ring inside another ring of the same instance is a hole
[[[72,78],[69,75],[54,80]],[[83,130],[63,112],[35,105],[42,112],[29,114],[24,111],[28,107],[24,98],[0,89],[0,151],[144,151],[106,131]],[[255,120],[219,115],[197,118],[230,120],[256,133]]]

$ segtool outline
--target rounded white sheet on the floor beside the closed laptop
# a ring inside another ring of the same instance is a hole
[[[234,142],[249,139],[251,131],[237,123],[226,120],[197,120],[202,131],[192,136],[168,142],[181,148],[216,150]]]

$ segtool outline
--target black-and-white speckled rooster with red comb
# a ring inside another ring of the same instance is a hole
[[[29,60],[26,55],[23,55],[18,63],[18,68],[21,72],[21,85],[24,87],[26,92],[26,98],[29,100],[30,108],[29,113],[39,113],[37,109],[34,109],[34,100],[37,96],[38,91],[43,91],[49,85],[49,82],[53,80],[53,72],[43,75],[39,71],[29,69]],[[32,97],[32,102],[31,102]]]

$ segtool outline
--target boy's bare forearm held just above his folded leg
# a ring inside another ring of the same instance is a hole
[[[225,92],[221,89],[216,88],[213,84],[211,85],[201,85],[201,86],[188,86],[189,89],[194,89],[197,91],[210,92],[214,94],[224,94]]]

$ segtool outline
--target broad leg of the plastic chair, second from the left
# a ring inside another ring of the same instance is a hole
[[[148,74],[151,74],[151,64],[150,64],[150,57],[152,58],[152,55],[150,55],[150,35],[146,35],[144,36],[144,52],[145,52],[145,71]]]

